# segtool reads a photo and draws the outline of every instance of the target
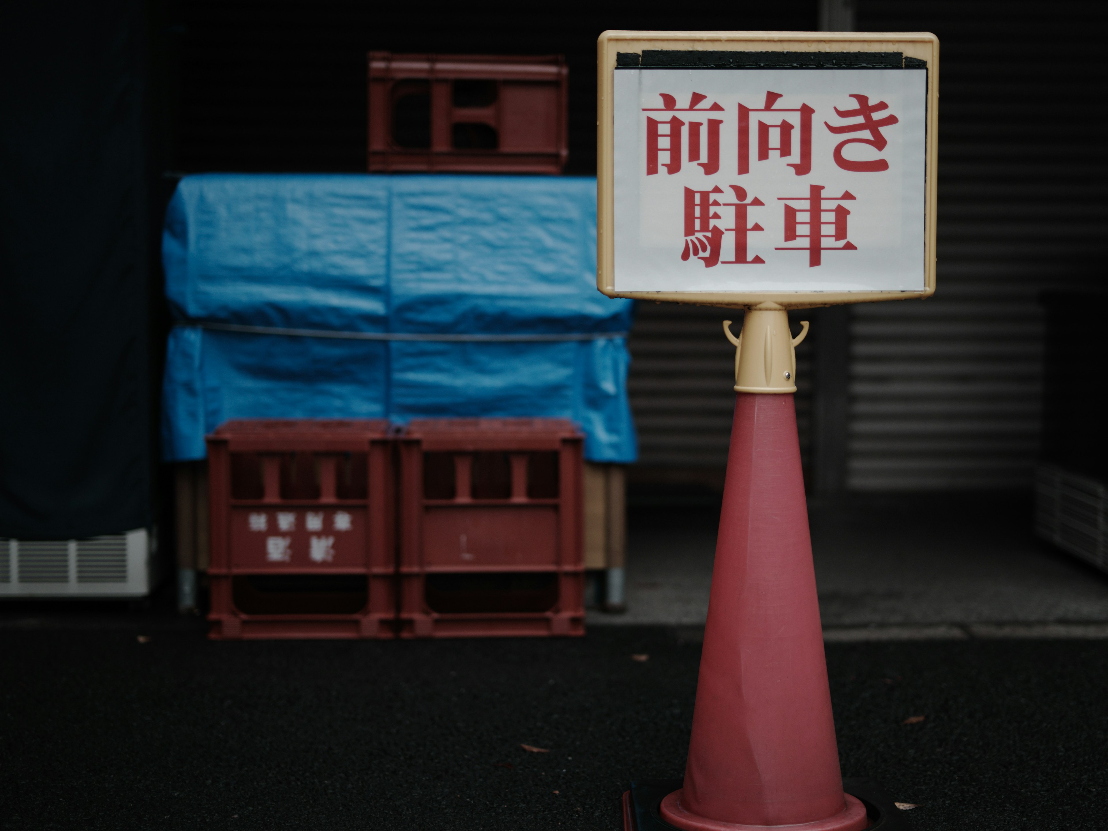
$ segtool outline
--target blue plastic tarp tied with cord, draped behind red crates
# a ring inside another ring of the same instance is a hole
[[[586,459],[634,461],[632,304],[596,290],[595,240],[592,178],[185,177],[164,458],[203,459],[233,418],[558,417]]]

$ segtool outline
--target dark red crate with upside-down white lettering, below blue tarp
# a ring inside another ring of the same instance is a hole
[[[211,637],[393,637],[388,422],[228,421],[207,447]]]

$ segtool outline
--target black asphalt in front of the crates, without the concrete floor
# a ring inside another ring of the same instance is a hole
[[[919,831],[1105,828],[1108,642],[827,657],[843,774],[919,806]],[[695,627],[230,643],[123,613],[6,625],[2,827],[616,831],[632,779],[681,774],[698,659]]]

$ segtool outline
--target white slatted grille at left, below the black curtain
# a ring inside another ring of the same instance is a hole
[[[146,529],[88,540],[0,538],[0,597],[142,597],[155,584]]]

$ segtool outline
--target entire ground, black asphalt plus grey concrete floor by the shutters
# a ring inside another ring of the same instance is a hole
[[[633,520],[630,611],[584,638],[209,642],[168,593],[6,603],[0,827],[617,831],[633,779],[681,774],[715,538],[710,509]],[[1028,523],[812,509],[842,772],[917,831],[1108,828],[1108,582]]]

